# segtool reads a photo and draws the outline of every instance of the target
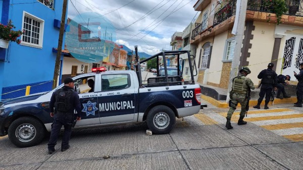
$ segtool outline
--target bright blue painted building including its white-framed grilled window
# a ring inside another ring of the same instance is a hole
[[[0,0],[1,23],[25,31],[20,45],[0,48],[0,100],[24,96],[26,86],[30,94],[52,90],[62,8],[58,0]]]

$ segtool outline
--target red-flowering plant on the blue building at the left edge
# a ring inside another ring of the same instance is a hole
[[[18,30],[14,31],[12,29],[15,29],[16,27],[12,24],[10,21],[8,25],[3,25],[0,23],[0,39],[6,40],[6,41],[13,41],[16,42],[17,44],[21,43],[21,40],[18,39],[23,32]]]

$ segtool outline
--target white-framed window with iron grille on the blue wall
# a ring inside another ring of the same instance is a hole
[[[29,46],[42,47],[44,21],[40,20],[28,13],[23,15],[23,30],[22,44]]]

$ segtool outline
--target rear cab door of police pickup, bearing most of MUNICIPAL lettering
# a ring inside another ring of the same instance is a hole
[[[98,93],[101,124],[133,122],[135,120],[135,90],[128,73],[103,74]]]

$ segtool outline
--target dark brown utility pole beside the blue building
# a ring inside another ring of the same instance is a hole
[[[63,44],[63,34],[64,34],[64,27],[65,27],[66,9],[67,9],[67,0],[63,0],[62,17],[61,17],[61,24],[60,24],[59,40],[58,40],[58,51],[57,51],[54,78],[53,78],[53,89],[55,89],[57,87],[57,81],[58,81],[58,75],[59,75],[61,51],[62,51],[62,44]]]

